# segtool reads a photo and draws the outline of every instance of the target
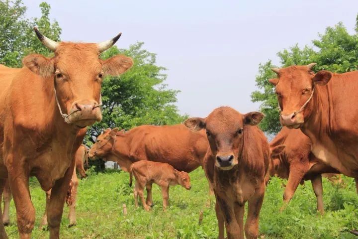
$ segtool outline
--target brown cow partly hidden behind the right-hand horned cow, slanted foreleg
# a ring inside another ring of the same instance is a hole
[[[283,193],[284,206],[292,199],[298,184],[302,180],[311,180],[313,191],[317,197],[317,210],[324,213],[323,208],[323,173],[340,173],[337,169],[318,160],[311,152],[311,140],[300,129],[282,127],[270,142],[271,160],[269,175],[288,179]],[[328,175],[333,176],[333,175]]]

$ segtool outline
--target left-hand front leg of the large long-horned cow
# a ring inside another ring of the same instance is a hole
[[[8,161],[10,156],[7,156]],[[24,165],[17,165],[17,169]],[[21,239],[30,239],[35,224],[35,208],[31,202],[28,175],[22,170],[9,170],[8,182],[16,208],[17,228]]]

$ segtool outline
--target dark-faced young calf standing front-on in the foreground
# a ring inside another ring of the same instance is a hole
[[[265,175],[269,167],[269,143],[257,125],[264,115],[242,115],[230,107],[215,109],[205,119],[190,118],[192,130],[205,128],[210,147],[204,169],[213,184],[219,239],[244,239],[244,210],[249,202],[245,224],[247,239],[259,234],[259,214],[265,194]]]

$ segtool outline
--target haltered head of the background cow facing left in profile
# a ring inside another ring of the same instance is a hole
[[[89,149],[89,158],[93,160],[94,157],[105,157],[112,150],[117,132],[118,128],[107,128],[98,135],[95,143]]]

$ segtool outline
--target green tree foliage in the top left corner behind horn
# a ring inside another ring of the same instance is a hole
[[[21,0],[0,0],[0,64],[21,67],[21,59],[29,53],[50,56],[53,53],[44,47],[36,37],[33,27],[53,40],[60,40],[61,28],[57,21],[50,22],[50,5],[40,4],[42,16],[27,19],[26,7]]]

